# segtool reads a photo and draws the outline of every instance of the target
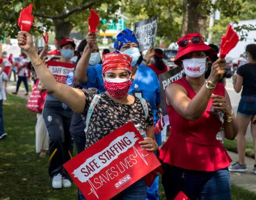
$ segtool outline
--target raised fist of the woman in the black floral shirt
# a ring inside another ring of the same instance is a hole
[[[24,51],[30,52],[30,50],[34,49],[33,38],[32,35],[29,34],[29,32],[19,31],[19,34],[17,35],[17,40],[19,47]]]

